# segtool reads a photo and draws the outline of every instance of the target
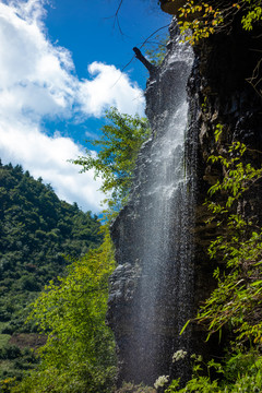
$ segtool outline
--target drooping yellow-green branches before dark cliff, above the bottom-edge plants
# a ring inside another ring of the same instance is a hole
[[[215,270],[218,286],[196,320],[209,324],[210,334],[229,325],[237,333],[235,340],[262,344],[262,230],[255,217],[243,215],[247,192],[257,187],[262,169],[245,162],[245,153],[247,146],[235,142],[223,155],[210,157],[223,165],[224,178],[210,189],[210,195],[221,195],[221,200],[216,196],[215,202],[209,201],[207,207],[223,234],[211,242],[209,253],[226,267]]]

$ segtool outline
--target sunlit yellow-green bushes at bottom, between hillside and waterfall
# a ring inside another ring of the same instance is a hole
[[[35,300],[34,319],[48,341],[38,369],[12,392],[110,392],[115,377],[114,338],[106,326],[108,276],[114,250],[106,229],[103,245],[68,266]]]

